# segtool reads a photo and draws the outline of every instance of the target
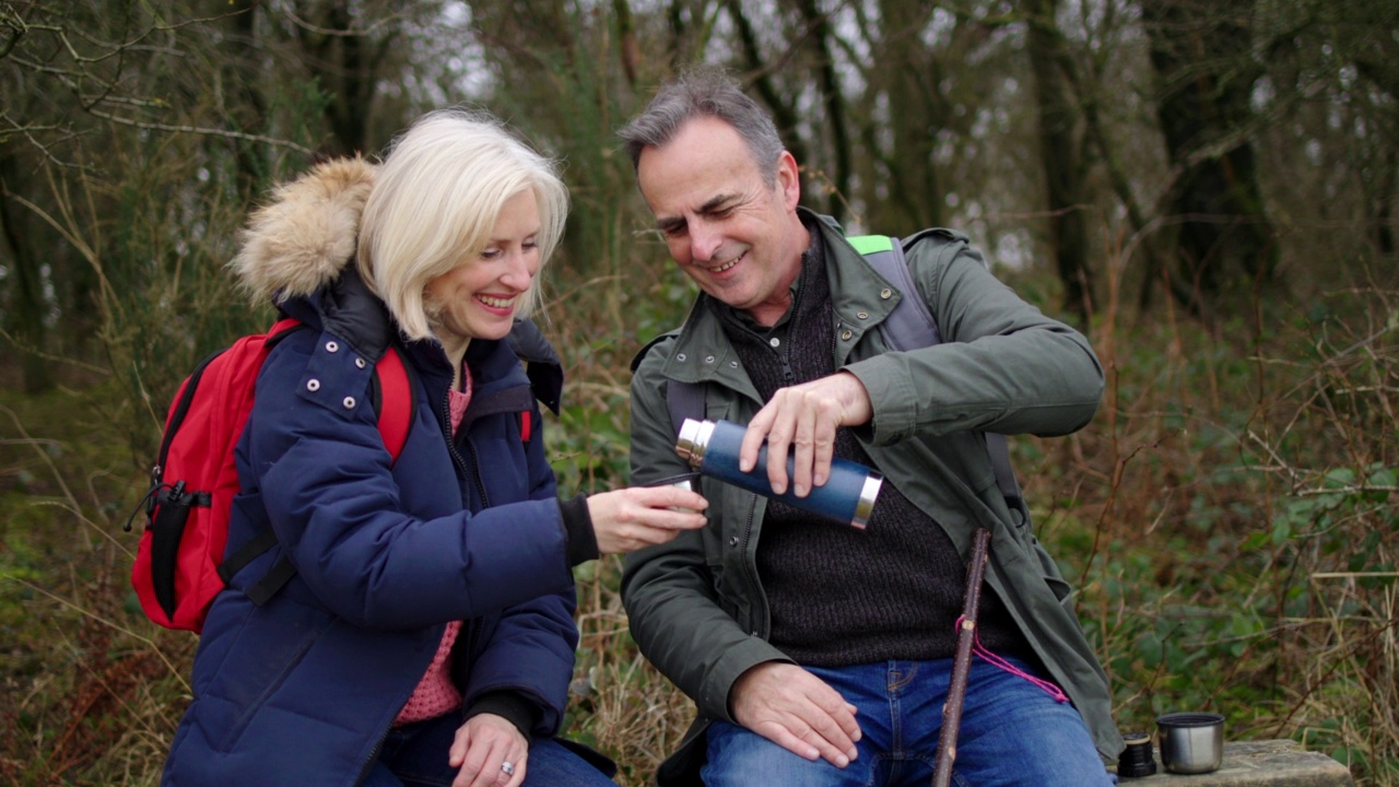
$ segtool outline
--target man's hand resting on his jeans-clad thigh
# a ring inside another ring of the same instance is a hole
[[[739,724],[809,760],[845,767],[858,755],[855,706],[796,664],[748,668],[733,683],[729,706]]]

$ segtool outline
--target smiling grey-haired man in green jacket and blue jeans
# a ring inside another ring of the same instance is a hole
[[[632,480],[687,469],[667,381],[702,384],[702,417],[748,426],[744,469],[767,440],[775,492],[809,493],[832,455],[886,476],[865,531],[702,479],[709,527],[627,560],[632,634],[700,711],[659,783],[926,784],[964,556],[989,527],[978,632],[1006,664],[972,662],[958,783],[1111,784],[1101,756],[1122,741],[1107,678],[981,436],[1087,424],[1102,394],[1087,340],[949,231],[904,241],[921,291],[898,293],[834,221],[797,207],[796,161],[722,73],[662,88],[621,137],[702,290],[684,326],[638,356]],[[900,297],[926,300],[943,343],[888,350],[877,326]]]

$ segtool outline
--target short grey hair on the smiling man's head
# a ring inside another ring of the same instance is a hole
[[[632,169],[648,147],[669,143],[687,122],[718,118],[743,139],[768,186],[776,183],[778,157],[786,150],[772,116],[739,87],[727,71],[697,67],[662,85],[646,108],[617,132],[631,155]]]

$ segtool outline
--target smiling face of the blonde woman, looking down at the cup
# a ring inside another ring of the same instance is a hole
[[[511,332],[515,309],[539,274],[539,232],[534,192],[526,189],[501,209],[480,255],[428,281],[424,297],[443,340],[504,339]]]

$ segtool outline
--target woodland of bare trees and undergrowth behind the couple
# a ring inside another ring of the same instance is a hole
[[[1014,441],[1118,723],[1214,710],[1399,784],[1395,0],[0,0],[0,781],[155,784],[196,639],[127,573],[164,410],[266,328],[266,189],[477,104],[567,161],[561,489],[625,483],[628,361],[693,290],[614,130],[691,63],[771,108],[804,202],[970,232],[1081,326],[1095,422]],[[688,702],[578,571],[569,734],[641,784]]]

